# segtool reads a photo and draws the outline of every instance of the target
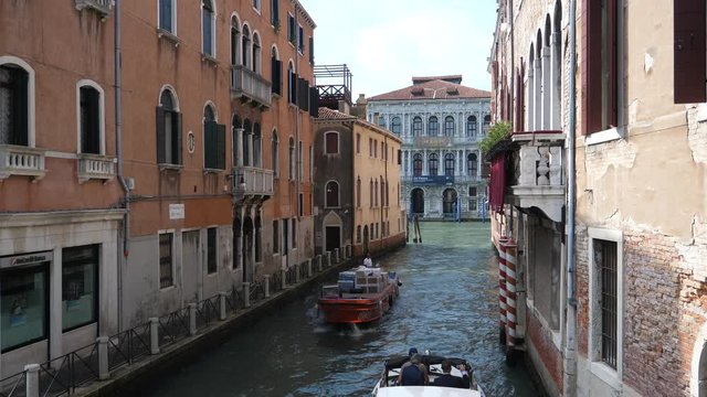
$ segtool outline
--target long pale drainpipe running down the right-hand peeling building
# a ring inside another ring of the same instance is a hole
[[[564,396],[577,396],[577,299],[574,297],[574,203],[577,175],[574,171],[574,130],[577,111],[576,68],[577,68],[577,21],[576,0],[570,0],[570,68],[569,117],[567,138],[567,331],[564,341]]]

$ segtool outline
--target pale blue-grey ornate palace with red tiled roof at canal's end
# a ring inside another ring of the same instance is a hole
[[[368,121],[402,139],[403,205],[423,219],[483,215],[478,142],[490,122],[490,94],[461,83],[461,75],[413,77],[409,87],[358,100]]]

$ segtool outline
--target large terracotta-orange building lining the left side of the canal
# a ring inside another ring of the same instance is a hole
[[[0,375],[314,254],[314,29],[296,0],[0,4]]]

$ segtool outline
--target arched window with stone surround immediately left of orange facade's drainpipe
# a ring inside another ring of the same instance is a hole
[[[105,150],[103,88],[91,81],[81,81],[77,86],[80,152],[103,154]]]

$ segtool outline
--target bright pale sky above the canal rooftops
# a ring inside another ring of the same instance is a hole
[[[408,87],[412,76],[461,74],[462,85],[490,89],[496,0],[299,1],[317,25],[315,64],[347,64],[354,101]]]

